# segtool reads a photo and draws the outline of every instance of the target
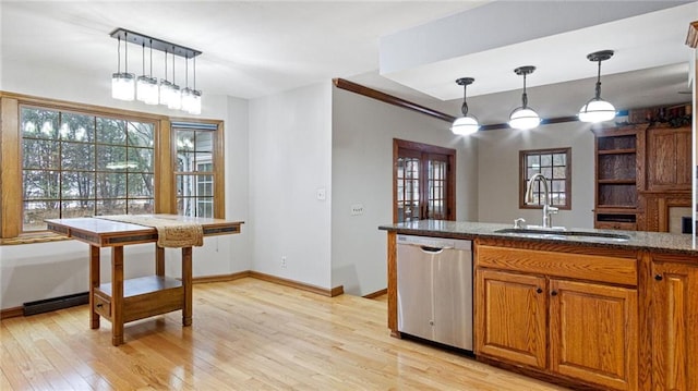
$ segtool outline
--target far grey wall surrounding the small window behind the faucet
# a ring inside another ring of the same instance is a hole
[[[571,147],[571,210],[553,216],[554,225],[593,228],[593,133],[582,122],[542,125],[530,131],[480,132],[478,185],[482,222],[541,224],[540,209],[519,209],[519,150]]]

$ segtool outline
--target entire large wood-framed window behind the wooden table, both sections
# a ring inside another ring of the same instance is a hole
[[[4,91],[0,114],[2,244],[55,240],[46,219],[225,218],[222,121]]]

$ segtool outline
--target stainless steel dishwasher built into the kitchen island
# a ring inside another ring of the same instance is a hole
[[[472,352],[472,242],[397,236],[397,329]]]

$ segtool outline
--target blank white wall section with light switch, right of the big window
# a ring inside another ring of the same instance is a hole
[[[330,102],[329,81],[250,101],[245,224],[254,270],[325,289],[332,288]]]

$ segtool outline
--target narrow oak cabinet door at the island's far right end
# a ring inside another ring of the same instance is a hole
[[[655,390],[698,390],[698,268],[654,262],[652,382]]]

